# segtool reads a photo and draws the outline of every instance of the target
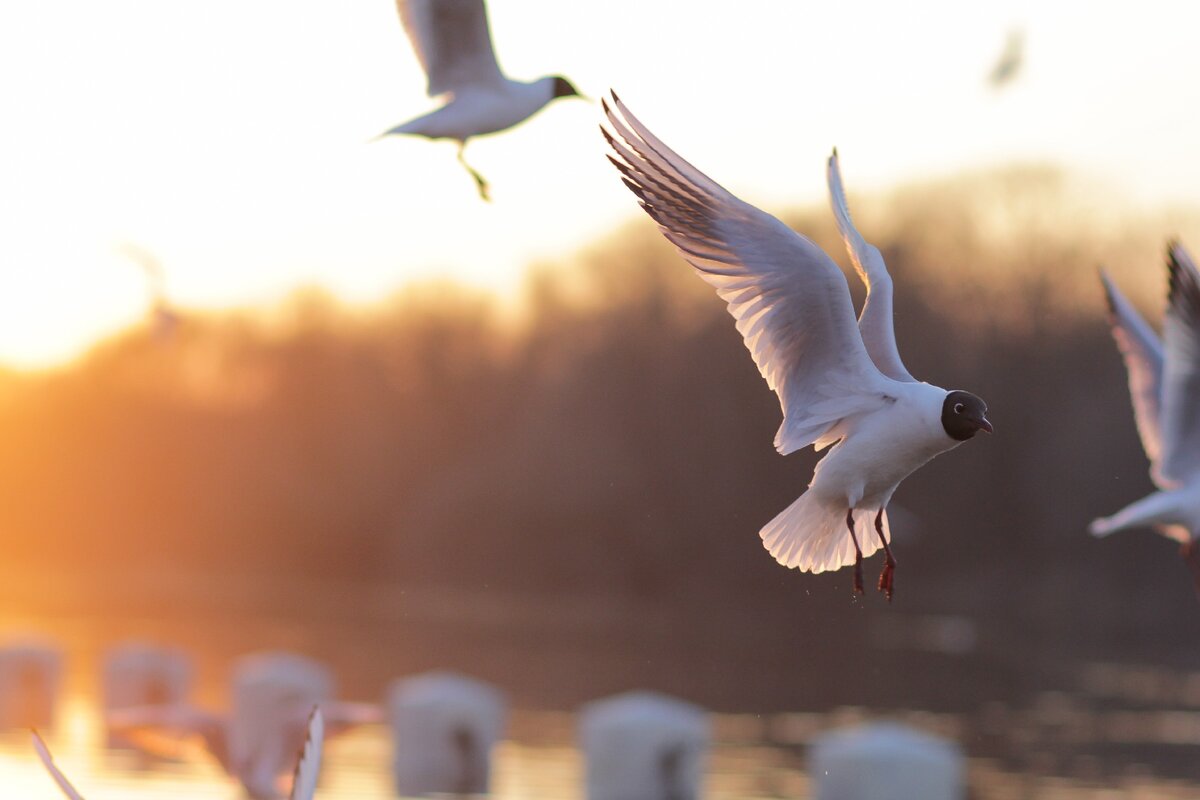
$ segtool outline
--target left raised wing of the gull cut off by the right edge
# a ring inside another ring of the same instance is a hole
[[[1133,416],[1141,437],[1142,450],[1150,459],[1150,473],[1159,488],[1168,488],[1171,481],[1160,475],[1163,453],[1162,397],[1163,397],[1163,344],[1146,320],[1126,300],[1112,279],[1103,270],[1100,283],[1109,301],[1109,324],[1117,350],[1124,360],[1129,375],[1129,397]]]

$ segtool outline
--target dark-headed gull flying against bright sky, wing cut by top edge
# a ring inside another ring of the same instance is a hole
[[[562,76],[530,83],[505,78],[496,62],[484,0],[396,0],[396,8],[428,77],[430,97],[445,95],[446,102],[383,136],[456,139],[458,163],[475,179],[479,196],[486,200],[487,181],[463,157],[467,139],[510,128],[556,97],[580,92]]]

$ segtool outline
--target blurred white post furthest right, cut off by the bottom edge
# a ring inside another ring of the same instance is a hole
[[[834,730],[809,748],[814,800],[962,800],[962,752],[906,726]]]

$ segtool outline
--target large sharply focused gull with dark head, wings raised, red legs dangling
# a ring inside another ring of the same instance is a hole
[[[868,299],[854,324],[846,277],[815,243],[733,197],[680,158],[629,113],[616,94],[604,130],[610,160],[659,230],[728,303],[758,371],[779,395],[787,455],[834,445],[809,489],[760,531],[780,564],[809,572],[887,557],[878,588],[893,591],[887,505],[910,473],[979,431],[986,404],[965,391],[914,379],[896,350],[892,278],[880,251],[854,229],[829,160],[834,216]],[[875,530],[871,530],[874,517]]]

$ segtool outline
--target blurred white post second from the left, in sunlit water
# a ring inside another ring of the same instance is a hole
[[[104,711],[175,705],[192,687],[192,662],[182,650],[124,642],[104,654]]]

